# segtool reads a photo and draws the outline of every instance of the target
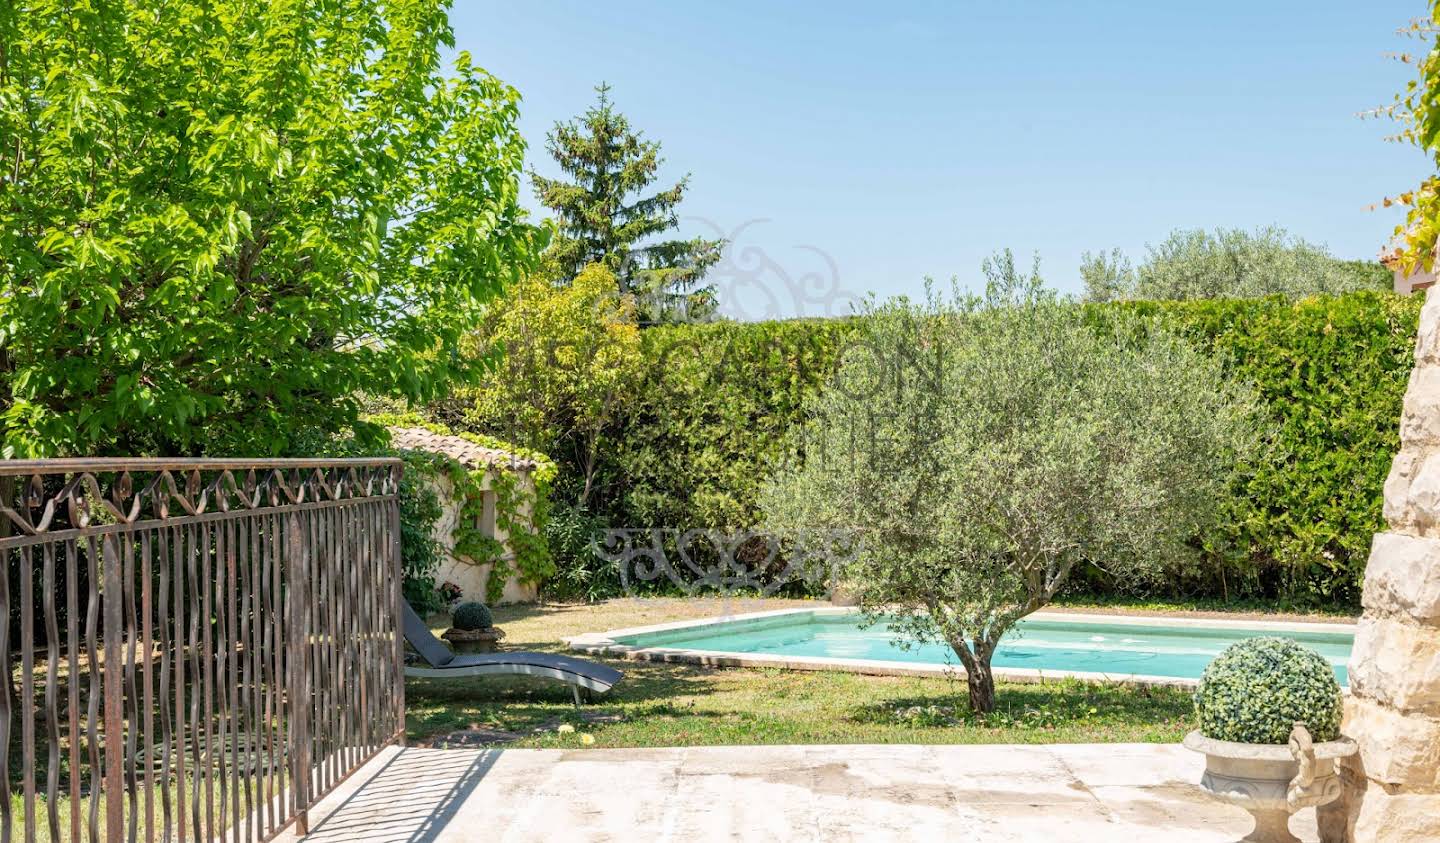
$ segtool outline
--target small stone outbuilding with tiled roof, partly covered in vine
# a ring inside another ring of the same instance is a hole
[[[503,559],[514,559],[514,548],[508,540],[510,536],[503,523],[500,523],[503,519],[497,519],[498,496],[495,481],[501,473],[514,476],[516,487],[521,497],[516,514],[521,519],[530,519],[534,514],[536,461],[497,448],[487,448],[462,437],[436,434],[425,428],[392,427],[389,429],[390,444],[396,448],[442,454],[455,460],[471,473],[481,473],[478,481],[482,506],[480,523],[475,526],[482,535],[501,543],[504,548]],[[441,501],[441,517],[435,522],[433,536],[441,548],[442,561],[439,571],[435,574],[435,582],[436,585],[454,582],[461,586],[462,599],[488,602],[485,591],[494,563],[482,559],[471,559],[455,552],[455,529],[459,525],[464,501],[456,494],[455,484],[449,477],[438,474],[431,483]],[[531,602],[537,598],[537,584],[523,582],[511,576],[505,581],[498,602]]]

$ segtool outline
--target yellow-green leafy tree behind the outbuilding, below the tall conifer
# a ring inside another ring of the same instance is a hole
[[[600,265],[567,287],[528,278],[488,308],[467,349],[491,369],[449,415],[554,458],[557,491],[586,509],[641,370],[634,298]]]

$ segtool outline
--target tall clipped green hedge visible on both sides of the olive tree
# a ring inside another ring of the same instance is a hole
[[[1212,563],[1176,569],[1171,595],[1358,602],[1420,304],[1354,293],[1084,305],[1097,326],[1116,308],[1158,317],[1225,354],[1269,403],[1274,447],[1238,480],[1227,526],[1200,539]],[[647,330],[644,385],[613,432],[599,513],[616,526],[753,525],[783,432],[861,344],[858,318]],[[1083,586],[1107,584],[1092,574]]]

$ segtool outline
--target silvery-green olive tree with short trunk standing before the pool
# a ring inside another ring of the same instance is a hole
[[[871,620],[949,644],[971,706],[991,659],[1081,562],[1145,578],[1192,552],[1259,442],[1250,391],[1181,339],[986,262],[984,295],[871,304],[863,342],[762,489],[770,529],[852,530]]]

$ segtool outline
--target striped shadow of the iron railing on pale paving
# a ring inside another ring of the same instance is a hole
[[[356,782],[354,793],[320,819],[305,842],[433,843],[498,758],[500,749],[402,749]]]

